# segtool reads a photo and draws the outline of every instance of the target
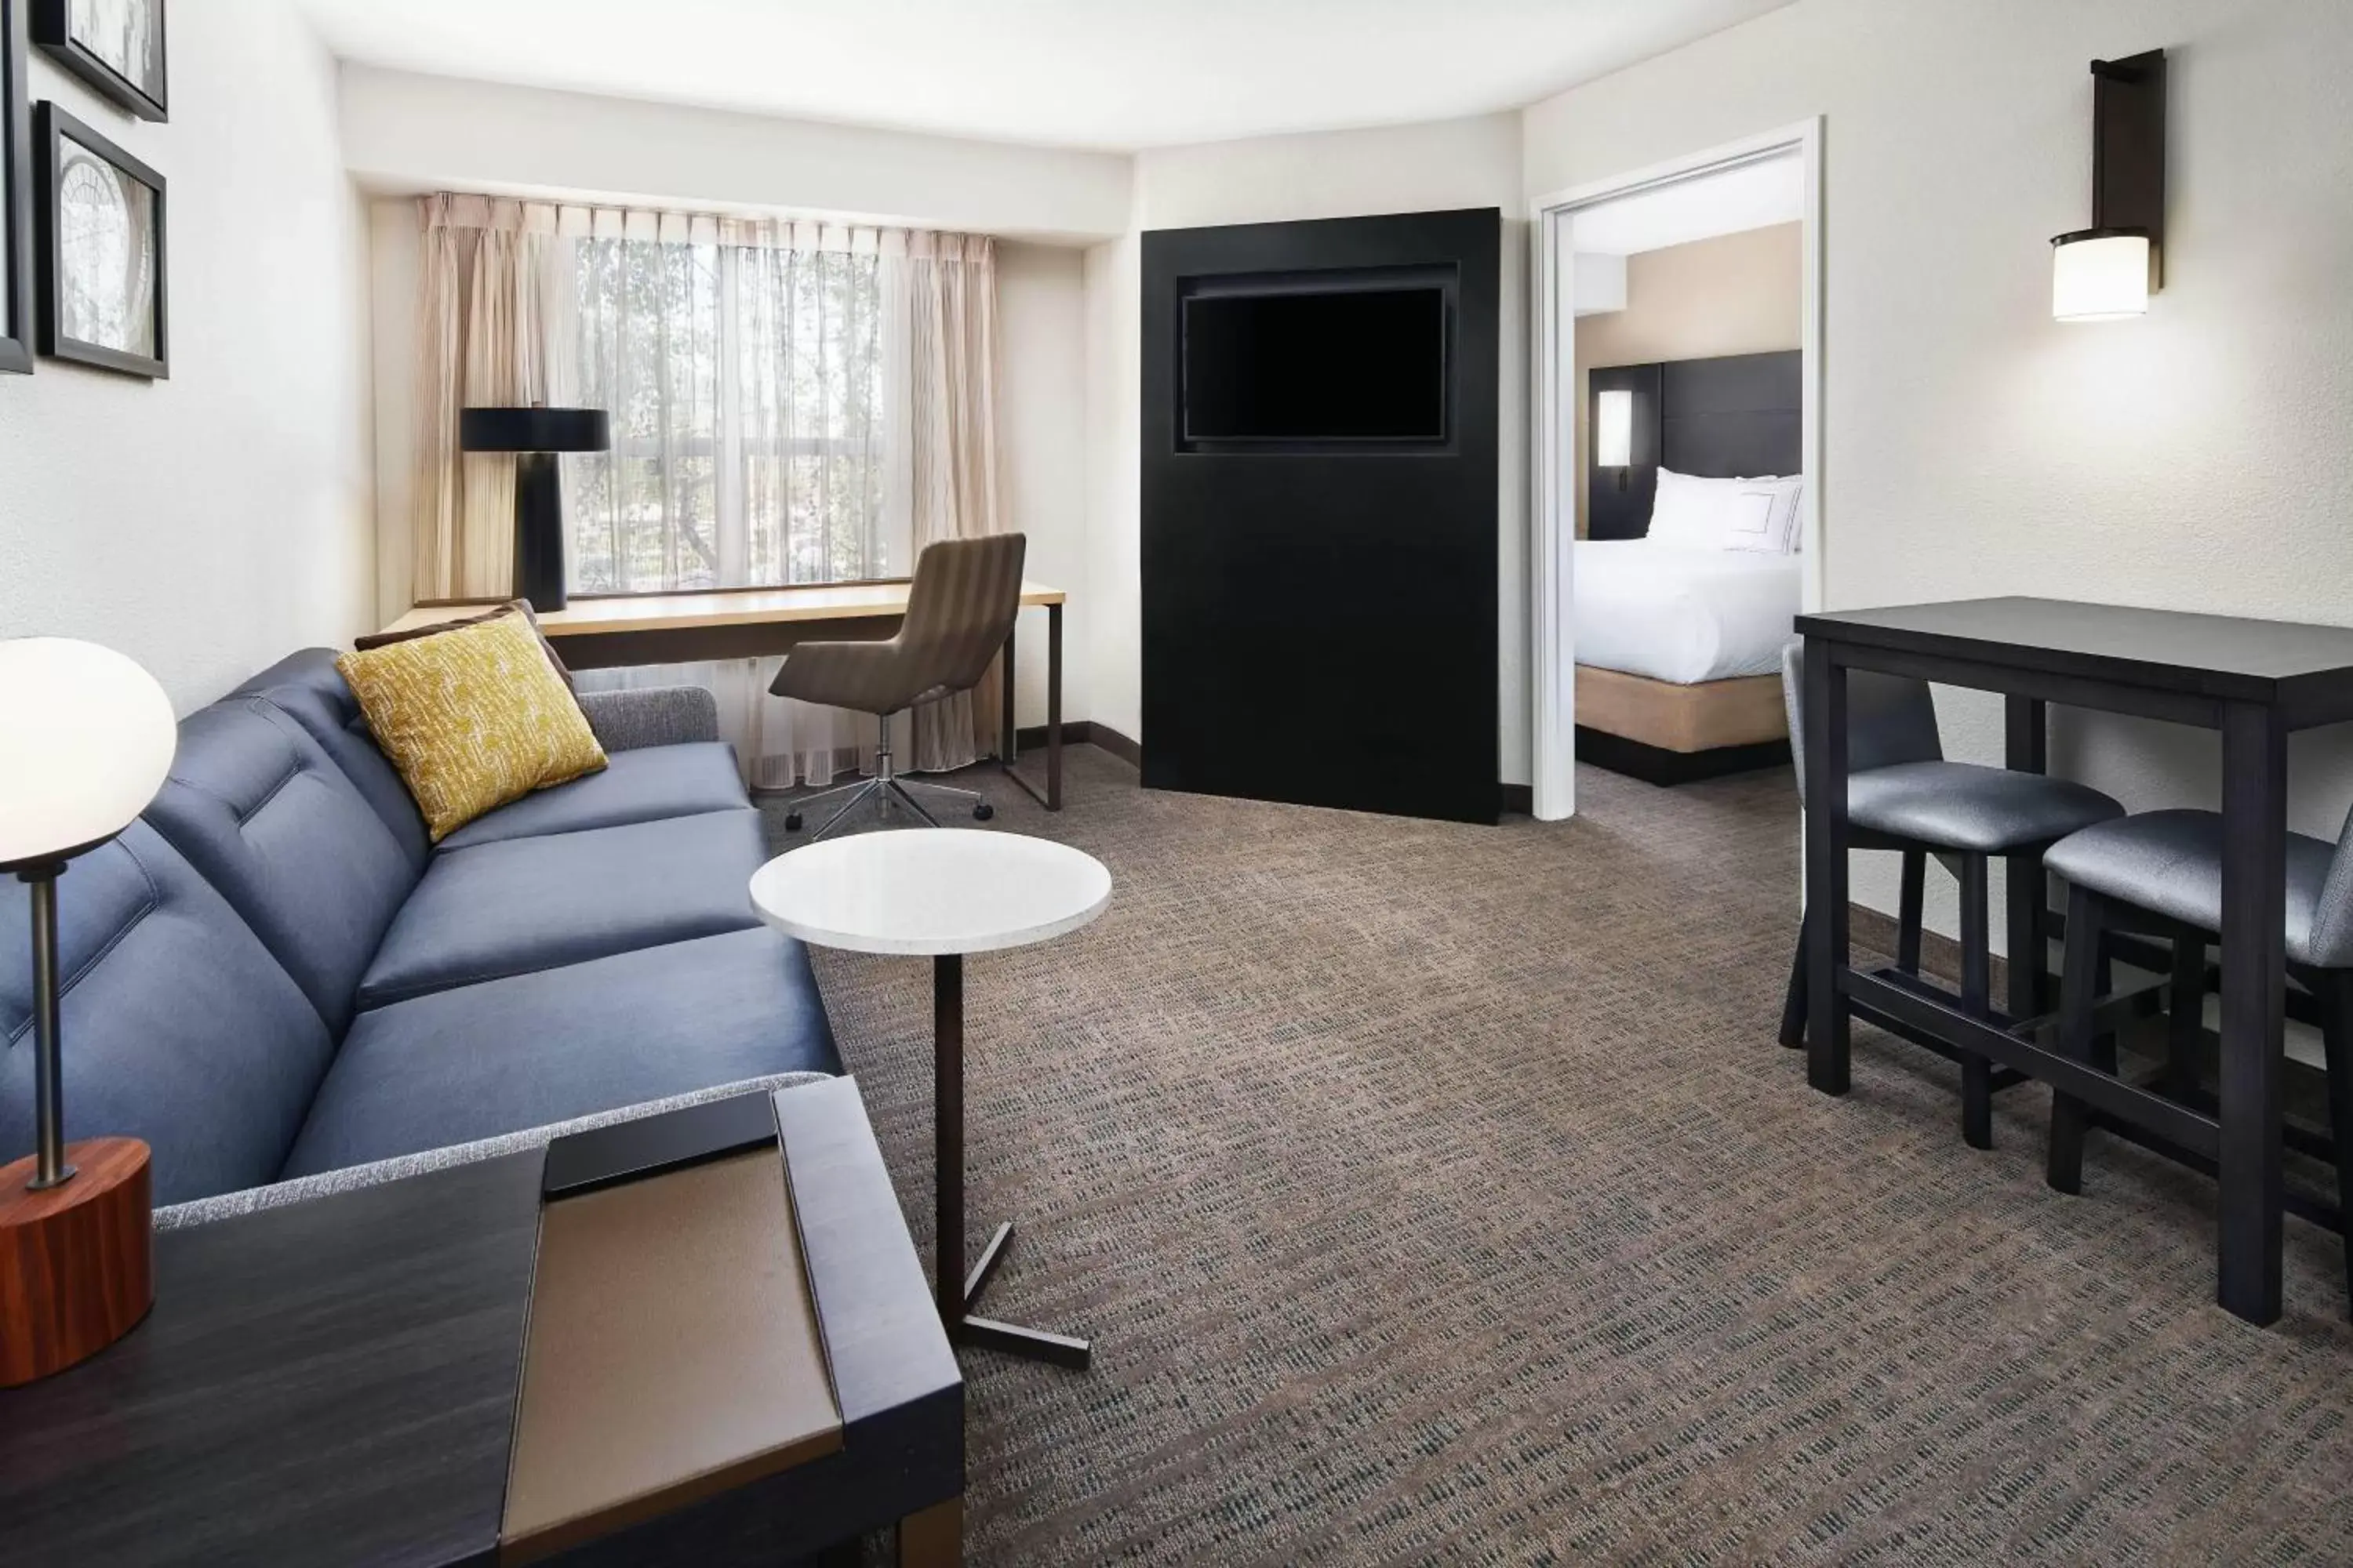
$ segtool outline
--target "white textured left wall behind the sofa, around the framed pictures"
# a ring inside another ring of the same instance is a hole
[[[33,52],[35,101],[169,181],[172,378],[0,376],[0,635],[122,649],[186,712],[367,623],[367,249],[285,0],[172,7],[169,87],[134,122]]]

